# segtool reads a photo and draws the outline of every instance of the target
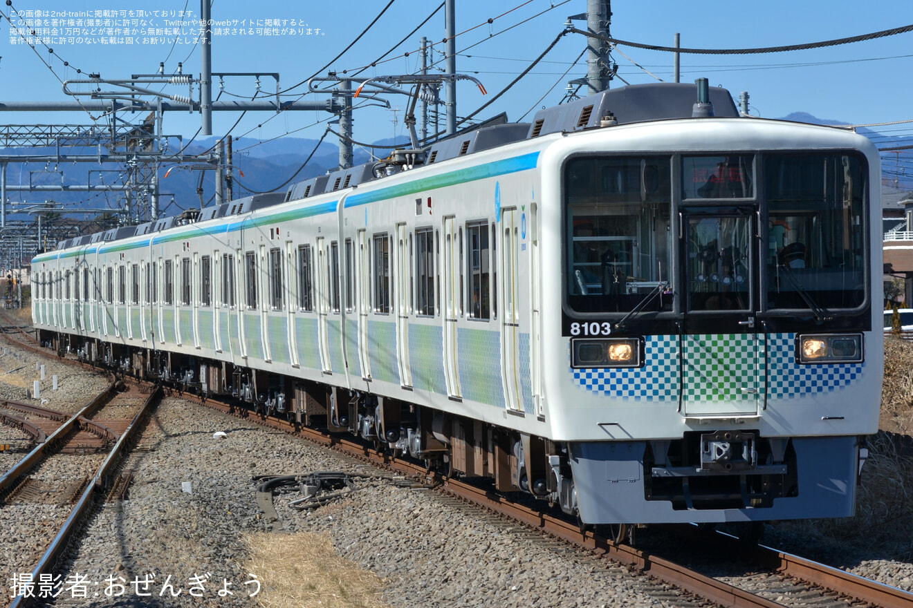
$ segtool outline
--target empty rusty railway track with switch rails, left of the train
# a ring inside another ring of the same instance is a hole
[[[33,582],[32,592],[20,587],[12,606],[36,601],[37,582],[53,580],[54,569],[79,524],[106,497],[122,498],[129,479],[118,476],[131,439],[153,407],[160,391],[142,394],[140,386],[115,381],[78,414],[11,401],[0,407],[45,422],[46,438],[0,477],[0,521],[11,530],[28,510],[43,513],[40,530],[29,539],[36,552],[31,562],[9,563],[20,581]],[[49,423],[49,424],[48,424]],[[41,425],[34,425],[41,428]],[[56,427],[50,430],[48,427]],[[50,430],[50,432],[47,432]],[[41,505],[41,507],[37,507]],[[43,549],[43,551],[42,551]],[[26,575],[26,576],[24,576]],[[15,594],[15,593],[14,593]]]

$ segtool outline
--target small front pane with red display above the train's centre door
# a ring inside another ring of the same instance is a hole
[[[683,199],[754,197],[752,154],[682,157]]]

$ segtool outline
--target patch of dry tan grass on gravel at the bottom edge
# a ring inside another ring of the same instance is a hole
[[[253,534],[247,572],[263,585],[257,600],[267,608],[331,606],[385,608],[383,581],[342,559],[324,534]]]

